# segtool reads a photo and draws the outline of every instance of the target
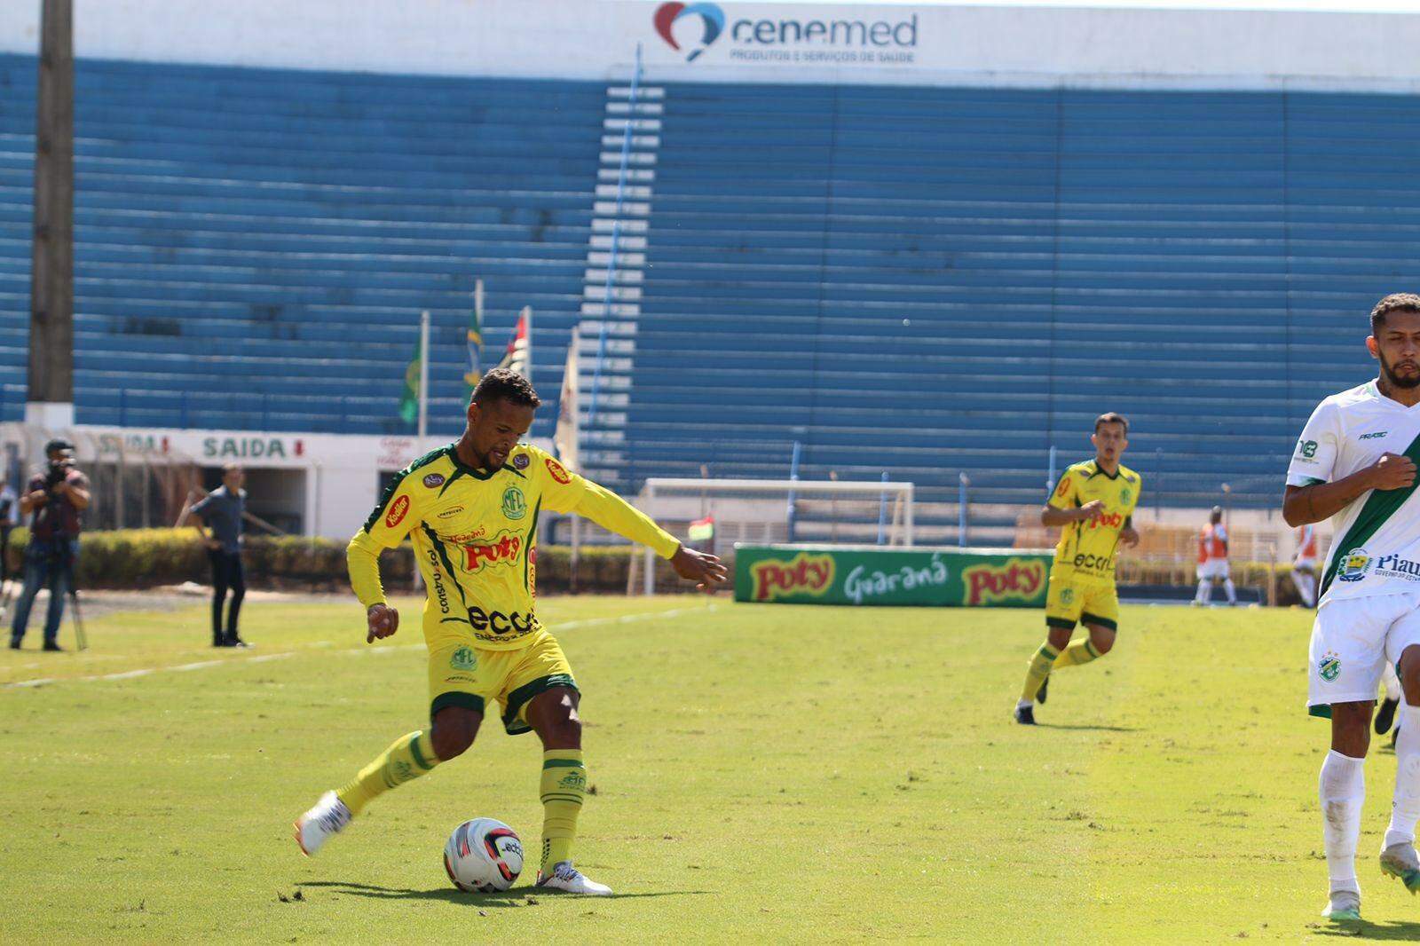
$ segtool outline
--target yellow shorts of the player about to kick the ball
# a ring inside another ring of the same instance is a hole
[[[510,736],[531,732],[527,707],[538,693],[558,686],[577,689],[562,648],[538,629],[515,651],[483,651],[467,641],[444,639],[429,651],[429,719],[446,706],[483,713],[498,702]]]

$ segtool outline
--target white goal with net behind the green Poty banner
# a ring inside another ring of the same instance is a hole
[[[734,565],[736,543],[912,545],[912,483],[649,479],[636,507],[686,544]],[[706,533],[709,538],[703,538]],[[679,578],[649,548],[633,555],[628,594]]]

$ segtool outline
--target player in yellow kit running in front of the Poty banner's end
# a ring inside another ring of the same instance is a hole
[[[1115,646],[1115,551],[1120,543],[1139,544],[1133,527],[1139,474],[1119,462],[1129,446],[1129,422],[1103,413],[1089,439],[1095,459],[1068,467],[1041,510],[1045,526],[1062,528],[1045,598],[1045,643],[1031,656],[1015,705],[1015,722],[1027,726],[1035,724],[1035,700],[1045,702],[1051,670],[1089,663]],[[1076,624],[1085,625],[1088,636],[1071,643]]]

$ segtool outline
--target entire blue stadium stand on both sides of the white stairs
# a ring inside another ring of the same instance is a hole
[[[0,57],[4,419],[33,84]],[[405,433],[429,308],[452,433],[479,276],[486,364],[532,305],[555,401],[594,298],[606,84],[82,61],[78,88],[81,423]],[[586,433],[623,445],[591,464],[619,489],[782,479],[798,440],[805,479],[886,470],[950,503],[964,472],[1004,509],[1113,409],[1146,504],[1272,504],[1306,412],[1367,376],[1365,312],[1420,286],[1417,97],[656,91],[635,351],[605,365],[629,396]]]

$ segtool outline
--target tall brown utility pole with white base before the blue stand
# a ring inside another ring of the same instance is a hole
[[[74,1],[44,0],[26,423],[74,426]]]

